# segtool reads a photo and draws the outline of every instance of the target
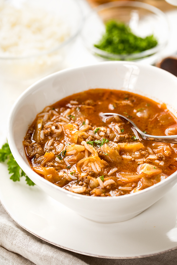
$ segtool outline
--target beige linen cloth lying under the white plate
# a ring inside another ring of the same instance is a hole
[[[141,259],[102,259],[53,246],[21,228],[0,204],[0,265],[177,265],[177,250]]]

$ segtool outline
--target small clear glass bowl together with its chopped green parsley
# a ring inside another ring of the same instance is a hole
[[[137,1],[114,1],[91,10],[82,38],[100,60],[134,61],[161,52],[168,43],[166,15]]]

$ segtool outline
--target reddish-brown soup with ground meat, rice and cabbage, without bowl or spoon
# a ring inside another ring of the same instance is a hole
[[[32,169],[68,191],[120,196],[148,188],[177,170],[177,145],[141,140],[145,133],[176,135],[177,120],[159,104],[134,93],[91,89],[39,113],[24,138]]]

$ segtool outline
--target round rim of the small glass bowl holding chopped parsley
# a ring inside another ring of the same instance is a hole
[[[165,21],[167,27],[168,27],[168,32],[166,32],[167,34],[167,38],[166,40],[161,43],[161,44],[157,44],[155,47],[139,52],[139,53],[132,53],[132,54],[114,54],[111,52],[106,52],[104,50],[101,50],[99,48],[96,48],[94,46],[89,46],[87,44],[87,39],[83,36],[83,31],[84,31],[84,26],[87,22],[87,19],[90,18],[90,16],[92,16],[92,14],[97,13],[101,10],[104,10],[106,8],[110,8],[110,7],[121,7],[121,6],[132,6],[132,7],[140,7],[140,8],[144,8],[144,9],[148,9],[149,11],[153,12],[154,14],[158,15],[159,17],[161,17],[163,19],[163,21]],[[127,57],[131,57],[132,59],[139,59],[141,57],[147,57],[149,55],[155,54],[157,52],[159,52],[161,49],[165,48],[165,46],[168,44],[168,36],[169,36],[169,23],[168,23],[168,19],[166,14],[161,11],[160,9],[158,9],[155,6],[152,6],[150,4],[147,3],[143,3],[140,1],[130,1],[130,0],[121,0],[121,1],[113,1],[113,2],[108,2],[106,4],[102,4],[99,5],[95,8],[93,8],[86,16],[82,30],[81,30],[81,37],[83,39],[83,42],[85,44],[85,46],[87,47],[87,49],[89,49],[92,53],[94,54],[98,54],[101,55],[105,58],[111,58],[111,59],[119,59],[119,60],[124,60]]]

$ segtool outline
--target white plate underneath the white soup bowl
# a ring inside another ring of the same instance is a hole
[[[153,256],[177,248],[177,186],[128,221],[90,221],[53,200],[37,186],[9,179],[0,164],[0,201],[25,230],[55,246],[100,258]]]

